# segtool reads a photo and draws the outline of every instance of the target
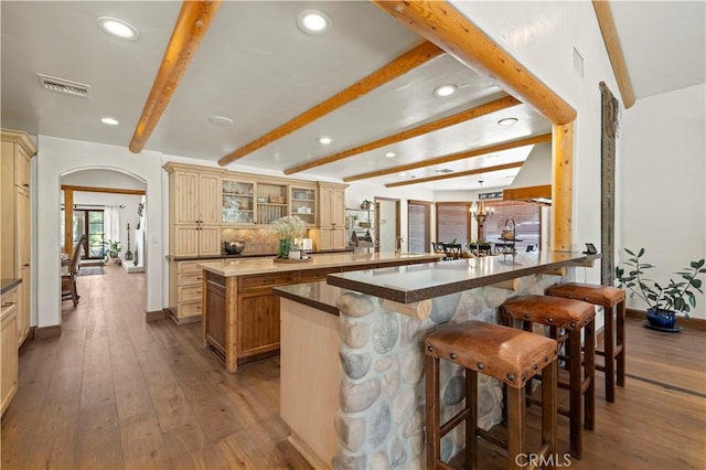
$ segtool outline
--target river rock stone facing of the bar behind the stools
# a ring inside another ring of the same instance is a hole
[[[496,308],[510,297],[543,292],[561,281],[558,276],[533,275],[513,282],[517,290],[481,287],[432,299],[428,318],[404,308],[383,308],[372,296],[344,293],[340,310],[341,409],[335,418],[340,449],[332,460],[336,470],[425,468],[424,338],[439,324],[480,320],[494,323]],[[398,306],[399,307],[399,306]],[[418,312],[417,312],[418,313]],[[441,361],[441,415],[462,408],[464,372]],[[490,429],[502,419],[499,381],[479,374],[479,427]],[[463,449],[464,432],[457,427],[441,440],[445,461]]]

